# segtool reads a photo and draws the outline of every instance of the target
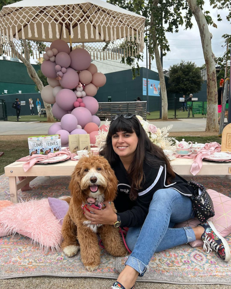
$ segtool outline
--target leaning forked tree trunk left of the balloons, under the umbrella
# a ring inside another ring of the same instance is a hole
[[[42,84],[42,81],[38,77],[34,67],[30,64],[30,56],[29,56],[29,50],[28,50],[28,46],[27,46],[26,40],[24,40],[24,55],[25,55],[25,58],[20,53],[17,53],[17,50],[16,50],[13,42],[10,42],[10,46],[11,46],[11,49],[14,50],[14,54],[17,55],[17,57],[26,65],[29,77],[37,85],[39,91],[42,91],[44,86]],[[52,114],[51,105],[47,104],[45,101],[43,101],[43,103],[44,103],[44,107],[46,109],[47,121],[55,121],[54,120],[54,116]]]

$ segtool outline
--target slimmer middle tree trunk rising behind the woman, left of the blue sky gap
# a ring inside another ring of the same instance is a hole
[[[153,2],[153,6],[157,6],[158,0],[155,0]],[[163,67],[161,64],[161,59],[160,59],[160,54],[159,54],[159,49],[158,49],[158,43],[156,41],[156,30],[154,28],[154,19],[153,19],[153,14],[151,14],[151,21],[150,21],[150,26],[152,29],[151,31],[151,37],[152,37],[152,43],[153,43],[153,50],[156,58],[156,67],[158,70],[159,74],[159,80],[160,80],[160,88],[161,88],[161,100],[162,100],[162,119],[166,120],[168,119],[168,98],[167,98],[167,90],[166,90],[166,84],[165,84],[165,79],[164,79],[164,72],[163,72]]]

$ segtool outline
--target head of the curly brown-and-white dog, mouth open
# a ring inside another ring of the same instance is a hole
[[[86,198],[96,198],[99,202],[113,201],[117,192],[117,179],[108,161],[98,155],[82,157],[72,173],[70,190],[78,203]]]

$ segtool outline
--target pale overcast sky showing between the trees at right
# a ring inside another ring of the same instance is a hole
[[[209,31],[212,33],[212,50],[215,56],[220,56],[224,53],[226,47],[224,45],[224,39],[222,35],[230,34],[230,23],[226,19],[227,12],[219,10],[218,13],[223,19],[221,22],[217,21],[217,10],[212,9],[209,5],[209,0],[205,1],[205,11],[210,11],[210,15],[214,22],[217,24],[217,28],[209,26]],[[192,17],[193,27],[192,29],[185,30],[182,26],[179,28],[178,33],[167,33],[166,37],[169,41],[170,52],[163,58],[163,69],[168,70],[169,66],[180,63],[181,60],[190,60],[195,62],[196,65],[202,66],[204,64],[204,57],[202,51],[202,45],[200,40],[199,29],[197,22]],[[140,63],[146,67],[146,48],[144,51],[144,61]],[[155,59],[151,63],[151,70],[157,71]]]

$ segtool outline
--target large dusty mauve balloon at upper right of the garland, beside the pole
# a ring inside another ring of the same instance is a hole
[[[86,70],[91,64],[90,53],[83,48],[76,48],[70,53],[71,64],[70,67],[75,70]]]

